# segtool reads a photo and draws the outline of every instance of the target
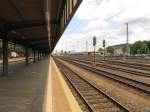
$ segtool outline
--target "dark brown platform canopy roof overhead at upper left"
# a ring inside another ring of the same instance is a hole
[[[82,0],[0,0],[0,38],[51,52]]]

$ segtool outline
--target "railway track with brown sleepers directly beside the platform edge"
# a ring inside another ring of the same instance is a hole
[[[118,101],[100,90],[95,83],[81,77],[58,60],[56,63],[90,112],[129,112]]]

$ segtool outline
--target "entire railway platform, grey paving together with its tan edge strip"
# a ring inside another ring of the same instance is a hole
[[[0,77],[3,112],[81,112],[52,58]]]

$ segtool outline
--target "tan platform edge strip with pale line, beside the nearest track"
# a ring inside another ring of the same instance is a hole
[[[82,112],[52,58],[49,70],[43,112]]]

